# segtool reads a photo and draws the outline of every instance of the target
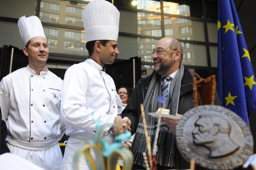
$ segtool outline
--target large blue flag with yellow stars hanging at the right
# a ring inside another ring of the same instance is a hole
[[[256,81],[233,0],[218,0],[218,94],[246,123],[256,109]]]

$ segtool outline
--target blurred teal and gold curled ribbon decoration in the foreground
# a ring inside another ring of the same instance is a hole
[[[120,127],[115,123],[113,126],[112,124],[100,126],[98,120],[95,120],[95,122],[97,123],[95,139],[86,142],[76,150],[72,162],[73,170],[79,170],[78,162],[81,156],[84,157],[90,170],[115,170],[119,157],[124,161],[122,170],[130,170],[133,165],[133,154],[129,149],[122,148],[122,140],[128,140],[131,132],[125,130],[125,133],[121,133]],[[110,126],[115,128],[118,134],[112,144],[109,144],[107,140],[102,140],[105,134],[104,129]],[[92,153],[94,156],[92,156]]]

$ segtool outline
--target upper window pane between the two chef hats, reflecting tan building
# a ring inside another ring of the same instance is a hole
[[[83,27],[82,13],[85,6],[86,4],[78,2],[42,0],[39,18],[43,22]]]

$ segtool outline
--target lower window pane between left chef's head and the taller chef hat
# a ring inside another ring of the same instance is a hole
[[[50,52],[88,55],[84,30],[43,28]]]

